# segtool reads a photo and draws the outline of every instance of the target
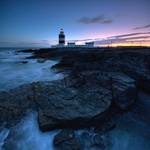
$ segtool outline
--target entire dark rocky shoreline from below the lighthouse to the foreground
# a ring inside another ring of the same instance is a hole
[[[136,107],[139,92],[150,93],[149,48],[23,52],[33,53],[32,59],[59,59],[52,68],[67,75],[0,92],[1,126],[14,126],[28,111],[37,111],[42,131],[63,129],[54,138],[58,150],[106,149],[109,142],[104,135],[115,128],[117,118],[142,111]],[[85,128],[93,130],[77,138],[73,130]]]

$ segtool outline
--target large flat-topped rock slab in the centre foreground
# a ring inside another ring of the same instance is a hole
[[[59,86],[58,82],[51,86],[41,84],[36,90],[37,104],[40,106],[38,121],[43,131],[91,126],[91,120],[101,114],[103,116],[111,105],[112,98],[107,89],[78,90],[63,85],[63,82]]]

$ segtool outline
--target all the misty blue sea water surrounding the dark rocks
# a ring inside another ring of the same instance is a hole
[[[51,66],[58,61],[41,63],[36,59],[26,59],[31,54],[16,52],[23,49],[26,48],[0,48],[0,91],[36,81],[63,78],[62,74],[51,70]],[[150,95],[141,92],[139,99],[148,110]],[[116,128],[108,133],[112,145],[106,150],[150,150],[150,127],[140,117],[136,112],[123,115]],[[54,150],[53,138],[58,132],[41,132],[37,113],[30,112],[16,126],[0,129],[0,150]]]

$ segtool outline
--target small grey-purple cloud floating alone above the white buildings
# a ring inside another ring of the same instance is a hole
[[[93,18],[90,18],[90,17],[82,17],[78,20],[79,23],[82,23],[82,24],[96,24],[96,23],[99,23],[99,24],[110,24],[113,22],[112,19],[108,19],[106,17],[104,17],[103,15],[100,15],[100,16],[96,16],[96,17],[93,17]]]

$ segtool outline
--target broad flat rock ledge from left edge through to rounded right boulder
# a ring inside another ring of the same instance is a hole
[[[106,119],[113,103],[125,110],[135,100],[136,84],[128,76],[82,72],[78,78],[36,82],[0,92],[0,123],[13,126],[27,111],[36,110],[42,131],[85,128]]]

